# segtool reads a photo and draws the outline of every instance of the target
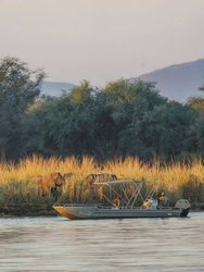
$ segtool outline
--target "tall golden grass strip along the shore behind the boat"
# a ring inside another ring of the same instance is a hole
[[[65,178],[62,187],[58,188],[58,198],[49,190],[41,195],[39,187],[31,182],[35,175],[49,173],[72,173]],[[102,196],[94,198],[94,191],[85,177],[89,174],[115,174],[118,180],[156,181],[157,198],[165,191],[170,206],[186,198],[192,209],[204,209],[204,166],[202,159],[166,164],[158,159],[143,162],[138,158],[127,157],[107,160],[102,163],[92,157],[27,157],[14,162],[0,163],[0,217],[10,215],[56,215],[52,205],[54,202],[94,203],[103,201]],[[31,189],[28,189],[30,188]]]

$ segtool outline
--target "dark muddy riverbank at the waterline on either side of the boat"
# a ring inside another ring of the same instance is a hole
[[[204,211],[204,203],[193,205],[191,211]],[[59,213],[51,203],[36,205],[8,205],[0,206],[0,218],[10,217],[56,217]]]

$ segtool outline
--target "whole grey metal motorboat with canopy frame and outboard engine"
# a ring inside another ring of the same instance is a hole
[[[55,209],[63,217],[76,219],[130,219],[130,218],[178,218],[187,217],[191,205],[187,199],[179,199],[175,207],[158,205],[153,198],[157,182],[125,180],[114,182],[97,182],[92,184],[102,191],[102,196],[111,205],[55,203]],[[131,195],[128,195],[131,186]],[[149,191],[146,193],[146,189]],[[105,191],[110,190],[109,194]],[[119,190],[119,193],[118,193]],[[119,198],[119,203],[112,200],[113,195]],[[144,196],[145,195],[145,196]],[[111,198],[111,197],[112,198]],[[136,203],[141,203],[136,206]]]

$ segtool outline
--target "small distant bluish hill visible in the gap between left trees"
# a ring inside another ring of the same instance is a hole
[[[44,82],[41,87],[41,95],[59,97],[63,90],[71,91],[74,87],[76,86],[71,83]]]

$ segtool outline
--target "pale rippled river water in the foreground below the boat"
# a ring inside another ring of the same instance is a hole
[[[0,219],[0,271],[204,271],[204,212],[178,219]]]

